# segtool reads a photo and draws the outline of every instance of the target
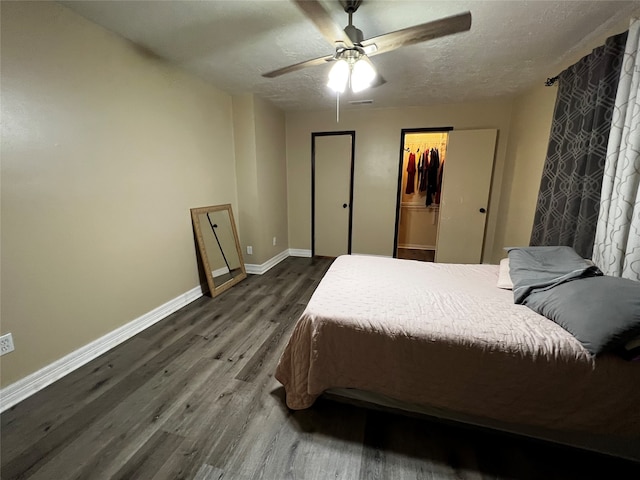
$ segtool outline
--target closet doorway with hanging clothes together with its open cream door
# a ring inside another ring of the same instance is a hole
[[[402,131],[395,257],[482,262],[497,135],[496,129]]]

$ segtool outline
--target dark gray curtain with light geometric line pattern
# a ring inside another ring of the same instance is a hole
[[[558,76],[531,245],[566,245],[592,255],[626,37],[608,38]]]

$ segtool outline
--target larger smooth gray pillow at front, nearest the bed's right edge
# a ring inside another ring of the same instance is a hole
[[[531,293],[524,304],[563,327],[592,355],[619,350],[640,335],[640,282],[579,278]]]

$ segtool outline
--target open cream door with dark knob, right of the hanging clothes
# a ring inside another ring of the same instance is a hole
[[[480,263],[497,130],[449,132],[436,262]]]

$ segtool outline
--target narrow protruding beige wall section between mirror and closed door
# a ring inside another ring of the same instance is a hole
[[[246,263],[260,265],[289,248],[285,117],[252,94],[233,97],[233,117],[241,247]]]

